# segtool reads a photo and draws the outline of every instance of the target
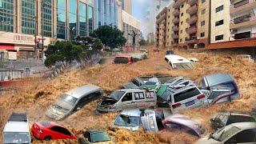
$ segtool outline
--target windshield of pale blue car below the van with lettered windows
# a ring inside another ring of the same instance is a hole
[[[139,117],[120,114],[114,122],[114,125],[137,127],[139,126]]]

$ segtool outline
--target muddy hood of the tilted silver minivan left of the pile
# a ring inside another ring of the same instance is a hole
[[[67,114],[69,114],[69,111],[60,110],[56,106],[50,106],[48,110],[46,110],[46,116],[55,120],[61,120]]]

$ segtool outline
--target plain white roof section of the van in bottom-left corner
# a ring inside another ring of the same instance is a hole
[[[30,132],[28,122],[6,122],[3,132]]]

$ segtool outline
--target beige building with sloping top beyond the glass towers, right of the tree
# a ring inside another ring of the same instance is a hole
[[[133,46],[133,31],[135,32],[135,46],[138,46],[138,41],[141,34],[141,22],[139,22],[132,15],[128,14],[125,10],[122,10],[122,31],[124,32],[124,37],[126,38],[126,46]]]

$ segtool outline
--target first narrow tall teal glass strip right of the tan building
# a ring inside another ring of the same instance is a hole
[[[65,39],[66,35],[66,0],[57,1],[57,38]]]

